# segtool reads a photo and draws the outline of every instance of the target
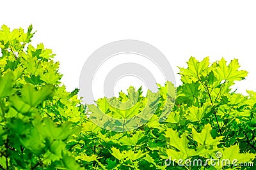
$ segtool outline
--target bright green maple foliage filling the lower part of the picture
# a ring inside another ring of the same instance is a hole
[[[255,168],[185,162],[256,163],[256,92],[243,96],[231,90],[247,75],[237,59],[227,64],[191,57],[188,67],[180,67],[177,94],[166,82],[147,96],[130,87],[127,94],[97,100],[97,106],[84,105],[78,89],[67,92],[61,85],[52,50],[31,45],[34,33],[32,26],[26,32],[0,29],[0,169]],[[139,115],[141,122],[125,122],[134,127],[130,131],[116,122],[99,127],[95,123],[103,115],[122,120]]]

